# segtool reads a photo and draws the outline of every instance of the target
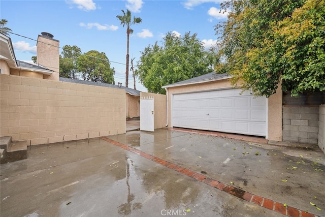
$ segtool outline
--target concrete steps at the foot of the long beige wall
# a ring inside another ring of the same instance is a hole
[[[27,141],[12,142],[11,137],[1,137],[1,164],[27,159]]]

